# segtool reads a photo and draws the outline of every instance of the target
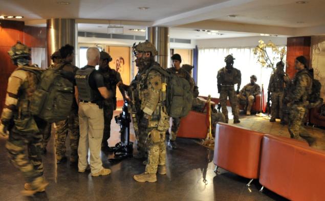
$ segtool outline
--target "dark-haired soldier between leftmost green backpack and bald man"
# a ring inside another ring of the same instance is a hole
[[[78,67],[71,62],[74,59],[74,47],[66,44],[60,48],[61,62],[54,66],[54,69],[62,68],[63,71],[73,72],[76,74]],[[75,85],[75,83],[74,83]],[[78,143],[79,143],[79,119],[78,105],[74,98],[70,115],[66,120],[55,122],[55,146],[56,146],[56,163],[60,164],[67,161],[66,157],[66,139],[70,134],[71,157],[70,164],[78,162]]]

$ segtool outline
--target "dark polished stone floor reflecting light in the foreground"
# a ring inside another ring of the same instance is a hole
[[[113,121],[112,126],[110,144],[114,145],[119,138],[119,127]],[[69,162],[56,165],[53,142],[54,135],[43,158],[45,177],[50,183],[46,192],[23,197],[20,191],[24,188],[24,178],[9,163],[5,140],[0,139],[0,200],[286,200],[267,189],[259,192],[258,181],[248,188],[247,178],[223,169],[214,173],[212,150],[191,139],[178,139],[178,149],[167,149],[167,175],[158,175],[156,183],[133,180],[134,174],[144,171],[141,161],[129,158],[110,164],[107,159],[112,155],[103,152],[103,166],[112,169],[108,176],[78,173],[77,167],[70,166]]]

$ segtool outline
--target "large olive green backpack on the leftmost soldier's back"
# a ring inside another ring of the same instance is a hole
[[[70,79],[73,73],[63,71],[63,67],[64,64],[58,69],[41,73],[36,91],[31,97],[31,114],[49,123],[67,119],[71,111],[74,85]]]

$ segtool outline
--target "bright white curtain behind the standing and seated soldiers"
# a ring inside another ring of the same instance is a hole
[[[239,69],[242,73],[241,88],[250,82],[251,75],[256,75],[256,83],[261,88],[263,84],[264,92],[267,92],[272,69],[262,68],[261,64],[257,63],[257,57],[253,53],[254,48],[199,49],[198,86],[200,96],[211,95],[211,97],[219,98],[216,88],[216,75],[226,65],[224,60],[228,54],[232,54],[235,58],[234,68]],[[272,54],[272,51],[268,51],[268,54],[271,59],[275,56]],[[235,90],[236,87],[235,85]]]

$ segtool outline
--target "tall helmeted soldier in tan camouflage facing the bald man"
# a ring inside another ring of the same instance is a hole
[[[137,99],[140,100],[138,128],[147,134],[148,163],[145,172],[133,178],[137,182],[156,182],[157,169],[159,174],[166,174],[165,132],[169,127],[169,117],[163,100],[165,84],[163,76],[152,69],[161,68],[154,60],[158,52],[152,43],[146,40],[137,44],[134,54],[140,70],[137,80]]]

